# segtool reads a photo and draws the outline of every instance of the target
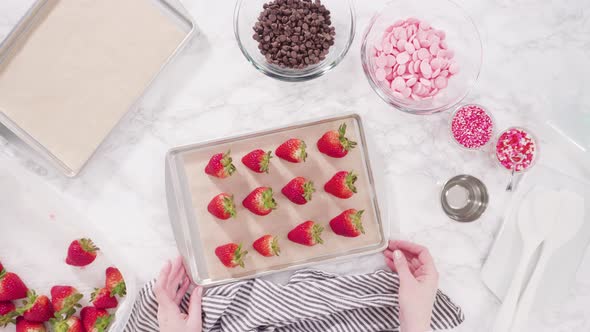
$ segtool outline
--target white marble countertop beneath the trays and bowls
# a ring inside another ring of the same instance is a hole
[[[0,1],[0,38],[30,2]],[[500,127],[534,126],[552,112],[590,126],[586,0],[458,2],[473,15],[484,42],[482,75],[469,101],[488,105]],[[384,1],[357,0],[357,38],[351,52],[332,72],[301,84],[267,78],[244,59],[233,36],[233,1],[184,3],[203,35],[162,76],[139,109],[122,121],[78,178],[64,178],[19,148],[10,135],[0,144],[0,172],[5,167],[16,174],[32,172],[40,183],[54,186],[65,201],[87,214],[83,222],[108,234],[144,282],[156,275],[165,259],[176,255],[164,193],[163,157],[169,148],[358,112],[377,138],[377,150],[386,156],[385,173],[398,193],[397,205],[403,207],[403,236],[431,249],[441,288],[465,310],[467,320],[457,330],[490,330],[499,301],[486,289],[479,271],[501,222],[507,177],[486,155],[468,154],[448,141],[448,114],[402,114],[370,89],[360,65],[359,36]],[[570,168],[588,174],[576,165]],[[436,195],[442,181],[464,172],[484,180],[492,198],[482,219],[460,225],[442,215]],[[9,231],[7,223],[0,219],[2,232]],[[381,257],[374,255],[320,268],[360,273],[384,267]],[[567,300],[555,303],[531,330],[590,330],[588,252],[571,286]]]

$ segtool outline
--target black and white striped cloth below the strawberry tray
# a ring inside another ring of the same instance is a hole
[[[141,290],[125,332],[159,331],[153,286]],[[399,331],[398,289],[397,274],[386,271],[338,276],[301,270],[286,285],[261,279],[222,285],[205,291],[203,331]],[[181,308],[187,306],[185,297]],[[438,291],[432,329],[451,329],[463,319],[461,308]]]

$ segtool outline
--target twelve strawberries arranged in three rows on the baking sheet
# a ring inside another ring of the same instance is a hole
[[[344,158],[350,150],[357,145],[356,142],[346,137],[346,124],[342,124],[338,130],[326,132],[318,141],[317,147],[321,153],[332,158]],[[277,157],[291,163],[305,162],[308,154],[303,140],[292,138],[281,144],[275,151]],[[272,151],[265,152],[261,149],[254,150],[242,158],[242,163],[256,173],[268,173]],[[214,155],[205,173],[217,177],[227,178],[236,172],[230,152]],[[355,182],[357,175],[354,171],[339,171],[326,182],[324,191],[341,199],[348,199],[357,193]],[[313,182],[304,177],[295,177],[281,190],[291,202],[303,205],[311,201],[312,194],[316,191]],[[254,189],[243,201],[242,205],[250,212],[266,216],[277,208],[273,198],[273,189],[258,187]],[[207,206],[207,210],[216,218],[227,220],[236,217],[236,205],[234,196],[230,193],[220,193],[213,197]],[[357,237],[364,234],[362,215],[364,210],[348,209],[330,221],[332,231],[340,236]],[[315,221],[307,220],[292,229],[287,238],[298,244],[314,246],[322,244],[322,232],[324,227]],[[276,235],[265,234],[252,243],[252,247],[265,257],[278,256],[280,247],[279,238]],[[228,243],[217,247],[215,254],[227,267],[244,267],[244,257],[248,253],[242,244]]]

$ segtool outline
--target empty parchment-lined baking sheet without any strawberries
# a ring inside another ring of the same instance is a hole
[[[192,32],[164,1],[38,1],[0,47],[0,122],[77,174]]]

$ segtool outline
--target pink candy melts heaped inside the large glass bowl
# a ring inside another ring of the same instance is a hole
[[[444,31],[416,18],[387,27],[371,54],[375,78],[387,83],[399,99],[430,99],[459,72]]]

